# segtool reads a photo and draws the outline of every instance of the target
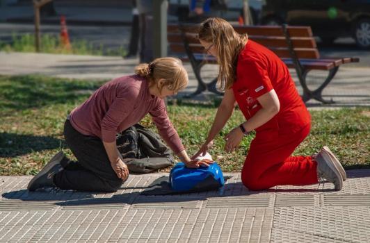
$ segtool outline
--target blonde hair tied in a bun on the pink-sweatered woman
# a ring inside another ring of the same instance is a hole
[[[156,58],[150,63],[141,63],[136,66],[135,73],[147,78],[150,86],[156,85],[159,79],[164,78],[166,81],[159,87],[160,92],[164,86],[178,92],[188,85],[188,73],[178,58]]]

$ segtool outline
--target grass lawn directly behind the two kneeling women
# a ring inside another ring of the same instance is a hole
[[[36,174],[57,151],[72,156],[63,140],[67,114],[102,85],[45,76],[0,76],[0,175]],[[207,135],[216,113],[208,104],[169,102],[168,113],[189,155]],[[210,151],[223,171],[240,171],[253,135],[234,153],[223,151],[223,136],[243,121],[239,110]],[[141,122],[154,128],[150,117]],[[312,155],[324,144],[347,169],[370,167],[370,108],[312,111],[312,132],[295,154]]]

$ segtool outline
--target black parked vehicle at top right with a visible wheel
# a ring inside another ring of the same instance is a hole
[[[358,47],[370,49],[370,0],[265,0],[261,21],[311,26],[328,44],[351,36]]]

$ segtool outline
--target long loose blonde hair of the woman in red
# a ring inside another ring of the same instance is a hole
[[[218,81],[220,90],[229,89],[236,79],[236,65],[248,35],[236,33],[225,19],[211,17],[200,24],[200,40],[214,44],[217,50]]]

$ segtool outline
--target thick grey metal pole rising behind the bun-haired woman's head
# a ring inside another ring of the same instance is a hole
[[[167,0],[153,0],[154,58],[167,56]]]

